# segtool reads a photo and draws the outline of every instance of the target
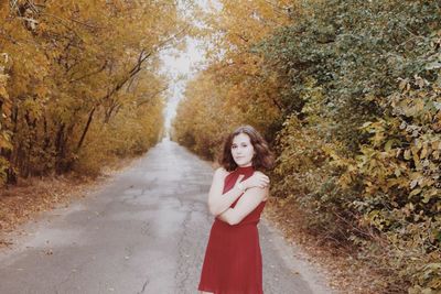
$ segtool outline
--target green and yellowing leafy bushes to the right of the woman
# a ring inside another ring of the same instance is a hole
[[[308,8],[310,14],[257,46],[279,73],[289,109],[279,133],[277,193],[293,194],[314,229],[336,239],[346,228],[336,215],[352,216],[345,220],[364,230],[354,220],[362,214],[366,227],[390,237],[389,258],[378,262],[402,264],[404,280],[430,290],[433,276],[412,274],[440,258],[437,238],[418,237],[441,226],[439,219],[431,225],[441,207],[439,7],[335,0]],[[314,161],[309,146],[324,160]],[[353,203],[362,209],[348,209]],[[404,262],[407,250],[435,254]]]

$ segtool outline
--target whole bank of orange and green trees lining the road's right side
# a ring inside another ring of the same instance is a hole
[[[174,140],[214,161],[254,126],[277,155],[281,208],[355,251],[383,276],[376,293],[439,293],[441,2],[218,2]]]

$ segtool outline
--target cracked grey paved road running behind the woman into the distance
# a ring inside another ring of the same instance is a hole
[[[164,139],[99,190],[25,225],[29,236],[0,251],[0,293],[197,293],[212,175]],[[258,228],[266,294],[331,293],[265,219]]]

